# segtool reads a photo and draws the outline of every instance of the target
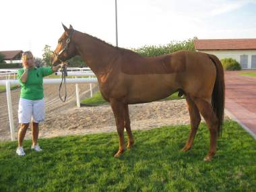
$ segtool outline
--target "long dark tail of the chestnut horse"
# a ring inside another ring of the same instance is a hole
[[[216,67],[216,80],[214,84],[214,91],[212,92],[212,108],[218,118],[218,135],[222,135],[225,102],[224,69],[218,57],[215,55],[208,55]]]

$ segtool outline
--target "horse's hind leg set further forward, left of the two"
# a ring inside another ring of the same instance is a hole
[[[197,106],[195,105],[195,102],[193,102],[193,100],[191,100],[189,96],[186,96],[186,100],[187,100],[187,108],[189,110],[191,130],[189,133],[189,139],[187,140],[187,143],[184,146],[183,151],[187,151],[191,149],[193,145],[193,141],[195,139],[195,134],[197,133],[197,129],[201,121],[201,116]]]

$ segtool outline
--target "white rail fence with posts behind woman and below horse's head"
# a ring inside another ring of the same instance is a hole
[[[68,72],[68,74],[70,74],[70,73],[73,73],[73,72]],[[78,75],[77,72],[75,72],[75,75]],[[93,76],[94,73],[82,73],[80,75]],[[90,84],[90,93],[92,96],[92,84],[98,83],[98,80],[96,77],[67,78],[66,83],[67,84],[75,84],[77,107],[80,107],[78,84]],[[43,79],[43,84],[61,84],[61,79],[59,79],[59,78]],[[10,127],[10,131],[11,131],[11,141],[15,140],[15,135],[14,135],[15,131],[14,131],[14,125],[13,125],[13,111],[12,111],[12,104],[11,104],[11,86],[17,86],[17,85],[19,85],[19,82],[18,82],[18,80],[15,80],[15,79],[0,80],[0,86],[5,86],[5,88],[6,88],[7,106],[8,106],[8,115],[9,115],[9,127]]]

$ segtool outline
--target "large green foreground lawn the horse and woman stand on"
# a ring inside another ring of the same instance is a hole
[[[43,152],[15,155],[0,143],[0,191],[255,191],[256,141],[227,121],[212,162],[203,162],[209,131],[201,124],[191,151],[189,126],[134,131],[135,146],[114,158],[117,133],[39,139]]]

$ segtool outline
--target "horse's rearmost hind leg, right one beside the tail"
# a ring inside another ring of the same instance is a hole
[[[218,119],[210,104],[210,99],[193,98],[193,101],[199,108],[203,119],[205,119],[208,129],[210,130],[210,151],[205,156],[205,161],[212,160],[216,153],[217,148],[217,136],[218,136]]]

